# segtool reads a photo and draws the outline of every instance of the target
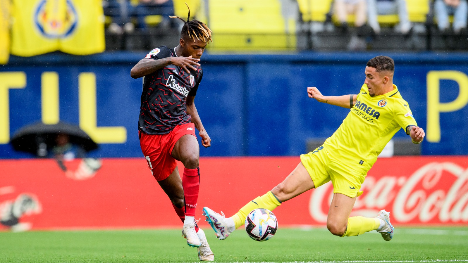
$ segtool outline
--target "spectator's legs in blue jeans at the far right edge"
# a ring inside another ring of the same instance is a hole
[[[467,0],[435,0],[434,11],[437,18],[437,27],[447,32],[450,27],[449,15],[453,15],[453,33],[467,34]]]

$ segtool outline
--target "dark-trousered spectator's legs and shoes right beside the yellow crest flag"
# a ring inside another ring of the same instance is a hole
[[[117,35],[123,34],[124,31],[132,33],[135,25],[130,22],[132,6],[128,0],[104,0],[102,1],[104,15],[112,18],[108,30],[110,33]]]

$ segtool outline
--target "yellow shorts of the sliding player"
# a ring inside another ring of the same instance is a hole
[[[358,173],[340,163],[339,160],[331,158],[323,145],[310,153],[301,154],[300,161],[307,169],[315,188],[331,181],[334,193],[349,197],[362,195],[363,191],[359,190],[366,174]]]

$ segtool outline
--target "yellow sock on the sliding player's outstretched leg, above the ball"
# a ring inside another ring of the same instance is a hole
[[[273,209],[277,208],[279,205],[281,205],[281,202],[271,191],[268,191],[263,196],[257,197],[254,200],[247,203],[246,205],[244,205],[239,210],[239,212],[235,213],[232,216],[235,228],[237,229],[239,228],[239,226],[242,226],[245,223],[245,218],[252,210],[256,208],[266,208],[270,211],[273,211]]]

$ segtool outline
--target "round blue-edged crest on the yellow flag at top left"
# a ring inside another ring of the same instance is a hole
[[[59,11],[59,1],[52,1],[51,7],[47,6],[46,2],[47,0],[39,0],[34,12],[34,23],[39,32],[48,38],[65,38],[72,35],[78,23],[78,14],[72,1],[66,0],[65,12]]]

